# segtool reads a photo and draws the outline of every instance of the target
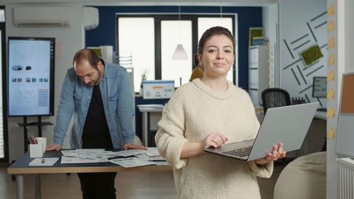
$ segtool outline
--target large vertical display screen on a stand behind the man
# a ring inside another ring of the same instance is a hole
[[[8,116],[54,115],[55,38],[8,37]]]

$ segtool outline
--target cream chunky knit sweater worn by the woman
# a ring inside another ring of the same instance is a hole
[[[178,88],[164,108],[155,142],[173,166],[178,198],[261,198],[256,176],[273,173],[273,162],[257,166],[215,154],[181,158],[185,142],[203,142],[210,132],[222,133],[227,143],[256,137],[259,123],[248,93],[227,84],[220,93],[194,79]]]

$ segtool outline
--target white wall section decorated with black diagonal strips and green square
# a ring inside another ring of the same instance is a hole
[[[280,87],[290,96],[312,98],[313,76],[326,76],[326,0],[280,0]],[[286,45],[287,44],[287,45]],[[319,45],[324,57],[311,67],[305,67],[299,53]],[[326,99],[320,99],[326,106]]]

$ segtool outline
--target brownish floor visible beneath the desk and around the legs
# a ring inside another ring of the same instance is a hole
[[[8,164],[0,164],[0,199],[16,198],[16,181],[7,174]],[[273,199],[276,180],[284,166],[277,165],[269,179],[258,178],[262,199]],[[34,175],[24,176],[25,198],[34,198]],[[41,175],[42,198],[79,199],[81,191],[76,174]],[[119,199],[170,199],[176,198],[172,171],[122,172],[115,178]]]

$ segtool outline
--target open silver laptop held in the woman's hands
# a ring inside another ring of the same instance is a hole
[[[286,152],[301,147],[312,123],[319,102],[268,108],[255,140],[224,144],[218,148],[203,149],[205,152],[251,161],[265,157],[273,151],[273,144],[284,144]]]

